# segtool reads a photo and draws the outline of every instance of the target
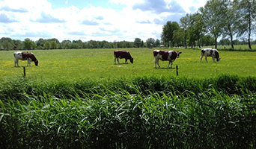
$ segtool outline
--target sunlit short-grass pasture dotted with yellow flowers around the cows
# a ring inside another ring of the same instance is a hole
[[[127,50],[134,58],[134,63],[114,63],[115,50]],[[176,59],[173,69],[168,69],[168,62],[159,62],[161,69],[155,69],[153,63],[153,49],[73,49],[73,50],[35,50],[31,51],[39,60],[39,65],[31,63],[27,67],[26,61],[19,60],[19,67],[14,67],[14,51],[0,51],[0,77],[16,77],[23,75],[25,66],[26,76],[37,79],[70,80],[80,78],[109,78],[135,77],[144,75],[175,76],[178,66],[179,76],[185,77],[214,77],[220,74],[255,76],[255,51],[219,51],[222,57],[220,63],[212,63],[211,57],[200,63],[200,49],[170,49],[182,51]]]

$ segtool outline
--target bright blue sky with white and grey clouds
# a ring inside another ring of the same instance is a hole
[[[0,0],[0,38],[108,42],[161,39],[166,22],[207,0]]]

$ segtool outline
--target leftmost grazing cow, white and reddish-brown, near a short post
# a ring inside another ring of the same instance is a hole
[[[38,66],[38,60],[36,57],[34,57],[34,54],[32,54],[31,52],[28,51],[16,51],[14,52],[14,67],[17,66],[19,67],[19,60],[28,60],[28,65],[30,65],[30,61],[33,61],[35,66]]]

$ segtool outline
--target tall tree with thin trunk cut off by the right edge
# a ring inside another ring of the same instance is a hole
[[[238,34],[240,37],[244,34],[248,34],[248,45],[251,46],[252,31],[255,29],[256,19],[256,0],[234,0],[234,3],[239,7],[239,25]]]

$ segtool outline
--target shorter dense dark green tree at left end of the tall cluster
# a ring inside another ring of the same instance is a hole
[[[162,42],[167,42],[168,47],[170,44],[174,46],[174,33],[180,28],[177,22],[166,22],[166,25],[162,27],[161,39]]]

